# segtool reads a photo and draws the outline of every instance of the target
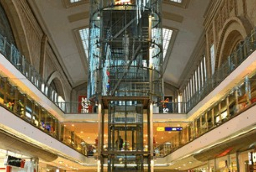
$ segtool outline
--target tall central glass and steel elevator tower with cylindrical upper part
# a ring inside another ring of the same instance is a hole
[[[98,172],[153,172],[162,99],[162,0],[90,0],[88,98],[98,106]]]

